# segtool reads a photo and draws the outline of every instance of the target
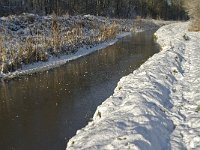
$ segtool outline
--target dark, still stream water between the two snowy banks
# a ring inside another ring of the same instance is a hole
[[[158,52],[152,31],[60,68],[0,84],[0,149],[64,150],[117,82]]]

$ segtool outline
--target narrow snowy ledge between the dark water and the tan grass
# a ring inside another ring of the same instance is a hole
[[[0,73],[0,78],[3,79],[12,79],[15,77],[19,77],[22,75],[27,75],[27,74],[33,74],[36,72],[41,72],[41,71],[46,71],[55,67],[59,67],[61,65],[66,64],[69,61],[75,60],[77,58],[86,56],[92,52],[95,52],[97,50],[101,50],[104,49],[110,45],[115,44],[119,39],[130,35],[131,32],[124,32],[121,33],[119,35],[117,35],[117,37],[113,40],[109,40],[109,41],[105,41],[101,44],[97,44],[95,46],[91,46],[91,48],[88,48],[88,46],[83,46],[82,48],[79,48],[77,50],[76,53],[71,53],[68,55],[61,55],[60,57],[50,57],[49,60],[47,62],[37,62],[37,63],[33,63],[33,64],[28,64],[28,65],[23,65],[22,68],[23,69],[18,69],[15,72],[10,72],[7,74],[1,74]]]

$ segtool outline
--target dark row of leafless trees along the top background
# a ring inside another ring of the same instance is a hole
[[[0,15],[32,12],[185,19],[182,0],[0,0]]]

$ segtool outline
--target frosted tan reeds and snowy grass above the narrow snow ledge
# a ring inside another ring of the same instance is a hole
[[[74,53],[83,45],[113,39],[119,33],[113,20],[94,16],[37,16],[0,18],[0,67],[13,72],[23,64],[47,61],[49,55]]]

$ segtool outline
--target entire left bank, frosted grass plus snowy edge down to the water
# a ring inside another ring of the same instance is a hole
[[[155,29],[168,23],[92,15],[1,17],[0,78],[49,70],[112,45],[127,32]]]

